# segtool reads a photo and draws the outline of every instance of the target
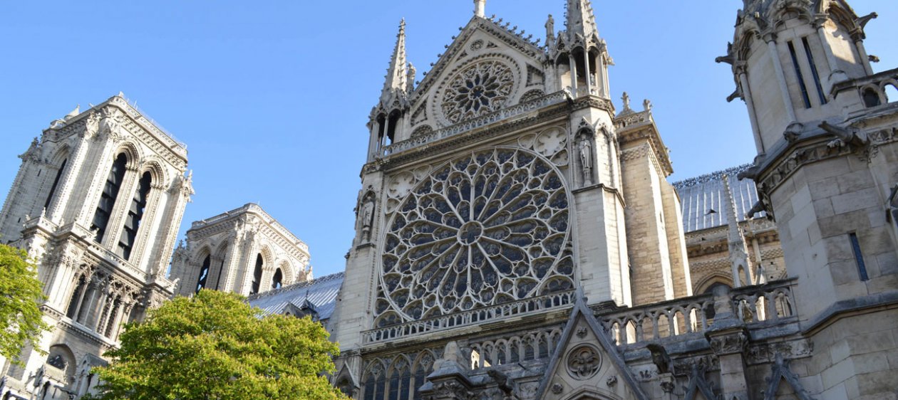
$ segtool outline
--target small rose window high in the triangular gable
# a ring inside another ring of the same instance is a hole
[[[443,114],[452,123],[505,107],[515,89],[508,65],[484,61],[455,75],[443,94]]]

